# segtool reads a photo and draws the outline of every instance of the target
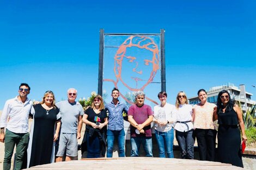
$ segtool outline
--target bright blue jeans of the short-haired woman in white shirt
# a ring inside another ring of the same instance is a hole
[[[173,139],[174,130],[173,128],[169,131],[162,132],[155,130],[156,141],[159,147],[159,157],[166,158],[166,152],[168,158],[174,158],[173,156]]]

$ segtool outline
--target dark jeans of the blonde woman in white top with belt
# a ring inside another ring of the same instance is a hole
[[[193,130],[188,130],[186,132],[176,130],[175,136],[180,147],[181,158],[194,159]]]

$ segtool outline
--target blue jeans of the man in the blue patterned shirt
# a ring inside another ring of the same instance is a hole
[[[115,137],[118,139],[118,156],[125,157],[125,132],[124,129],[121,130],[107,130],[107,158],[112,158],[113,156],[113,147],[114,147],[114,140]]]

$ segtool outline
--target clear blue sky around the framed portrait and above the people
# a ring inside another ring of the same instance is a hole
[[[176,93],[226,83],[256,95],[255,1],[0,1],[0,78],[4,102],[28,83],[29,98],[52,90],[57,100],[75,87],[97,91],[99,30],[166,30],[169,103]],[[157,94],[156,94],[157,95]],[[252,99],[256,100],[253,96]]]

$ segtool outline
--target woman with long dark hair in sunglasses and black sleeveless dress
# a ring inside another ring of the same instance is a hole
[[[218,93],[217,116],[219,124],[217,160],[243,167],[240,130],[242,140],[246,142],[245,124],[243,124],[241,109],[231,102],[230,95],[226,90]]]

